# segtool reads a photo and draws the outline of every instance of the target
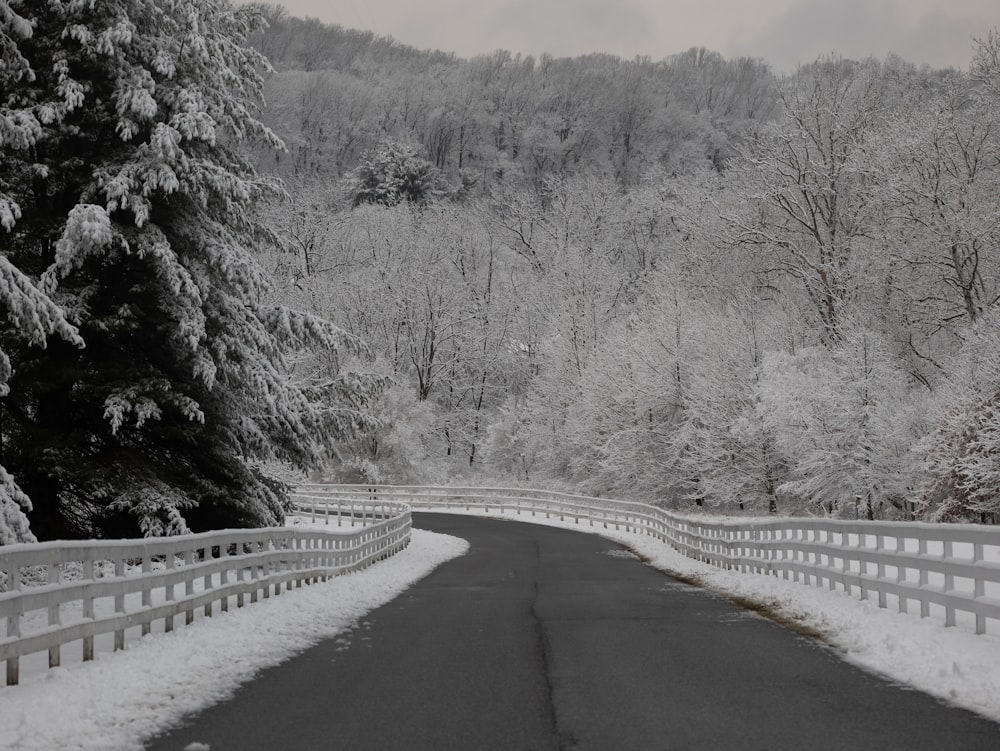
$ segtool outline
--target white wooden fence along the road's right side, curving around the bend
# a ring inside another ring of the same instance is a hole
[[[644,503],[520,488],[303,485],[313,504],[395,501],[414,510],[478,510],[559,518],[650,535],[684,555],[726,569],[841,589],[880,607],[957,623],[977,634],[1000,621],[1000,528],[971,524],[826,518],[705,519]]]

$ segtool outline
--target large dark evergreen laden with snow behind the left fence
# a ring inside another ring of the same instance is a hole
[[[39,280],[31,289],[86,342],[74,346],[54,307],[41,330],[62,339],[44,349],[23,330],[0,332],[13,371],[3,461],[32,499],[32,530],[279,522],[285,488],[256,462],[316,463],[370,422],[365,403],[382,381],[289,372],[296,349],[365,347],[272,305],[251,254],[273,240],[255,201],[280,190],[239,152],[280,148],[254,114],[267,64],[245,40],[259,11],[52,0],[19,12],[32,33],[8,38],[33,74],[6,82],[5,104],[38,125],[2,151],[5,205],[20,207],[5,263]]]

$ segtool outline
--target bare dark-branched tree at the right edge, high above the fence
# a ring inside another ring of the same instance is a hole
[[[975,321],[1000,299],[1000,107],[955,76],[882,140],[892,247],[925,328]]]

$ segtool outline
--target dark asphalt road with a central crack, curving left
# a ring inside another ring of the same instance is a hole
[[[469,540],[469,553],[147,749],[1000,748],[1000,725],[600,537],[414,517]]]

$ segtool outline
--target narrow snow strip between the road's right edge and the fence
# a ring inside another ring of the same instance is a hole
[[[548,524],[600,534],[628,546],[654,568],[696,580],[723,596],[746,598],[788,621],[818,632],[844,659],[897,683],[1000,722],[1000,636],[977,636],[970,623],[945,628],[940,620],[899,614],[841,591],[786,581],[764,574],[725,571],[681,555],[651,537],[505,512],[474,516]],[[996,629],[989,621],[988,629]]]

